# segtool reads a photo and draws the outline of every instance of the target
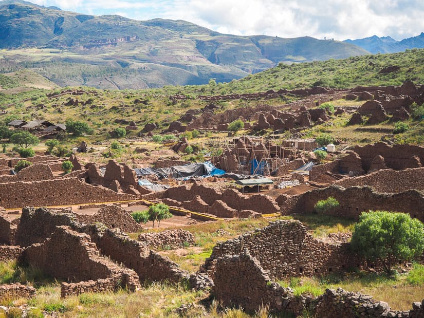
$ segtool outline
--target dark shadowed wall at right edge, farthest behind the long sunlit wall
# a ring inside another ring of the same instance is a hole
[[[417,156],[424,163],[424,147],[396,144],[389,146],[386,143],[378,142],[373,145],[355,146],[353,149],[362,161],[362,168],[365,171],[370,170],[371,162],[376,156],[382,156],[388,168],[394,170],[402,170],[410,166],[410,161],[413,156]]]

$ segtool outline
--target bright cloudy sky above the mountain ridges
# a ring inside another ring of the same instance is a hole
[[[29,0],[31,1],[31,0]],[[424,31],[422,0],[32,0],[85,14],[186,20],[221,33],[402,40]]]

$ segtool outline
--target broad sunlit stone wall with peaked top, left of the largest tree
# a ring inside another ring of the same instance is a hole
[[[240,254],[245,249],[259,260],[271,277],[314,276],[360,266],[362,260],[348,252],[348,244],[329,244],[308,234],[299,221],[270,222],[268,227],[217,244],[205,262],[212,273],[216,258]]]

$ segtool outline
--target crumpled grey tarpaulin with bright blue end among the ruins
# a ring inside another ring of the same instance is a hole
[[[192,177],[209,177],[225,174],[224,170],[217,169],[210,161],[175,165],[169,168],[136,168],[134,171],[139,177],[154,174],[159,179],[173,178],[176,180],[188,180]]]

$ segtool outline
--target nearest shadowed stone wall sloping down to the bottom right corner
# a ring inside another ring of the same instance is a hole
[[[372,296],[347,292],[341,288],[327,289],[318,297],[294,296],[290,288],[273,282],[259,261],[248,251],[237,255],[223,255],[216,260],[214,286],[211,294],[222,305],[242,307],[254,312],[269,304],[272,312],[317,317],[410,317],[424,316],[424,300],[414,302],[412,309],[392,310],[388,303]]]

